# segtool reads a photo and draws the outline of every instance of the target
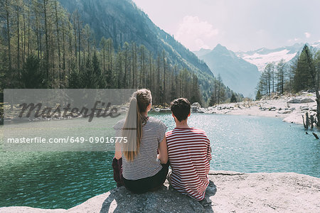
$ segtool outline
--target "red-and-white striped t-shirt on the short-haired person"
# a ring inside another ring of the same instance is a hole
[[[203,200],[209,185],[210,141],[206,132],[196,128],[175,128],[166,133],[170,182],[178,192]]]

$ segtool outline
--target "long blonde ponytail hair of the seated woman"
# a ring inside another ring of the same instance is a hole
[[[144,120],[142,112],[151,104],[152,97],[149,89],[139,89],[132,94],[129,111],[122,129],[122,136],[127,137],[127,143],[124,143],[123,153],[127,160],[132,161],[139,153],[140,142],[142,138],[142,121]]]

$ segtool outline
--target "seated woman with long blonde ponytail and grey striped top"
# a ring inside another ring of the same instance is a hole
[[[168,173],[166,126],[159,119],[148,116],[151,92],[139,89],[130,100],[126,119],[114,125],[117,136],[127,139],[116,150],[112,167],[117,186],[124,185],[135,193],[154,190],[163,185]]]

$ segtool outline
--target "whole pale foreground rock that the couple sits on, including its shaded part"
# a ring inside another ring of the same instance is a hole
[[[71,209],[2,207],[0,212],[320,212],[320,178],[297,173],[237,173],[211,170],[214,182],[197,202],[169,187],[134,195],[124,187]]]

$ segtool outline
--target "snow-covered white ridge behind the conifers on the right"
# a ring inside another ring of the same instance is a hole
[[[314,50],[320,49],[320,42],[316,42],[310,45]],[[260,48],[258,50],[237,52],[236,55],[243,58],[247,62],[256,65],[260,72],[265,70],[265,66],[269,62],[279,62],[284,59],[289,62],[294,58],[297,53],[301,52],[304,47],[304,43],[296,43],[292,46],[285,46],[277,49]]]

